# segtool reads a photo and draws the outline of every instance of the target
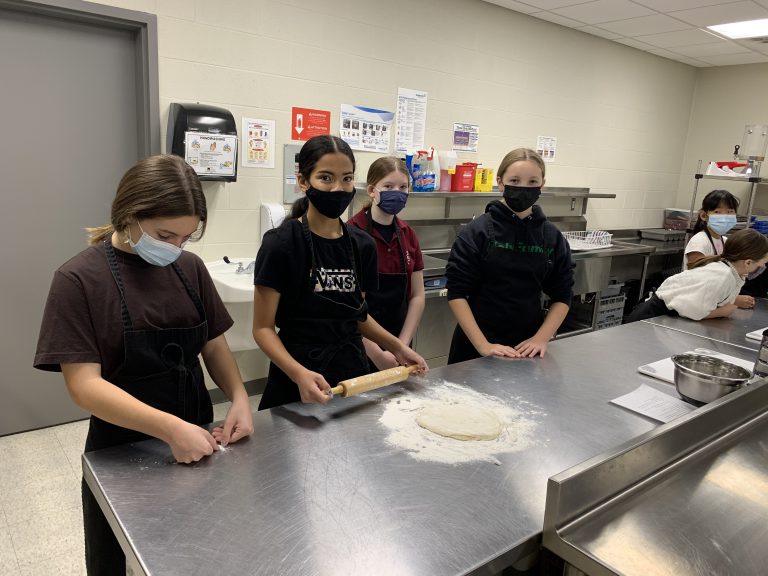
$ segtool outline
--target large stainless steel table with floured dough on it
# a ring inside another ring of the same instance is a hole
[[[152,574],[494,574],[539,548],[547,479],[657,423],[609,404],[636,367],[699,346],[649,323],[554,341],[543,359],[484,358],[326,406],[257,413],[253,436],[196,465],[156,440],[84,455],[129,565]],[[420,462],[385,444],[383,400],[445,379],[539,408],[539,441],[488,462]]]

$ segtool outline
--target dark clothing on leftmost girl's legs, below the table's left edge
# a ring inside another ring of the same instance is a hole
[[[85,568],[88,576],[125,576],[125,554],[91,489],[82,481]]]

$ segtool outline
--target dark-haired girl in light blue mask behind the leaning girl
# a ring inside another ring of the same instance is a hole
[[[728,234],[736,226],[736,211],[739,199],[727,190],[712,190],[704,196],[699,210],[699,217],[693,227],[693,236],[685,246],[683,270],[688,270],[695,262],[709,256],[723,253]],[[759,270],[751,278],[762,272]],[[739,308],[753,308],[755,299],[740,294],[735,304]]]

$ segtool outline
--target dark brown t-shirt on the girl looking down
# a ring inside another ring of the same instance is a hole
[[[171,266],[153,266],[115,250],[134,329],[189,328],[201,318]],[[184,251],[177,260],[203,302],[208,340],[233,324],[205,264]],[[103,243],[83,250],[53,276],[35,354],[35,368],[60,371],[62,363],[101,364],[104,378],[123,362],[120,294]]]

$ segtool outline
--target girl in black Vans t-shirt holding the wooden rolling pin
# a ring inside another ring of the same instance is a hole
[[[340,138],[308,140],[299,152],[305,197],[262,241],[253,335],[271,363],[259,409],[298,400],[324,404],[330,384],[367,374],[363,336],[399,363],[427,369],[368,315],[363,293],[376,286],[375,246],[340,219],[354,198],[354,170],[352,150]]]

